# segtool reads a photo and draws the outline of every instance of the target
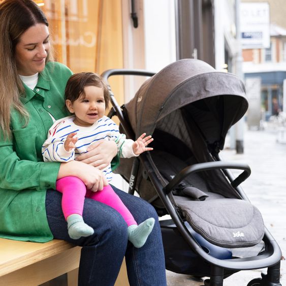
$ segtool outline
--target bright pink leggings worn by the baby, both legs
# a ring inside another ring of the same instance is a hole
[[[137,225],[129,209],[125,207],[110,185],[105,186],[103,190],[92,192],[86,189],[81,179],[68,176],[56,181],[56,190],[62,193],[61,207],[66,219],[74,213],[82,215],[84,198],[90,198],[117,210],[128,226]]]

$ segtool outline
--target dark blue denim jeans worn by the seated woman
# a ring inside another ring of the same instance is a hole
[[[115,187],[113,189],[138,224],[149,217],[155,218],[155,226],[141,248],[135,248],[128,241],[127,225],[116,210],[88,198],[84,201],[83,219],[94,229],[94,234],[77,240],[71,239],[61,210],[61,194],[47,190],[47,219],[54,238],[82,246],[79,286],[113,286],[124,256],[131,286],[166,285],[161,229],[154,208],[138,197]]]

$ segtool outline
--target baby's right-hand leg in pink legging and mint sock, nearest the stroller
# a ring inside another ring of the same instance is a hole
[[[138,248],[145,244],[153,229],[154,218],[148,218],[138,226],[129,209],[122,203],[110,185],[105,186],[103,190],[98,190],[95,193],[87,190],[86,197],[116,209],[128,225],[128,239]]]

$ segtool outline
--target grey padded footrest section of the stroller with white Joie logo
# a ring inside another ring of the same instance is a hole
[[[215,245],[247,247],[258,244],[263,238],[262,216],[248,202],[218,199],[204,203],[180,203],[179,206],[193,229]]]

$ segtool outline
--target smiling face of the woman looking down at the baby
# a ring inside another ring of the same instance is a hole
[[[15,47],[18,74],[31,76],[43,71],[49,49],[48,27],[42,23],[29,27]]]

